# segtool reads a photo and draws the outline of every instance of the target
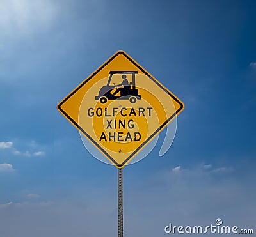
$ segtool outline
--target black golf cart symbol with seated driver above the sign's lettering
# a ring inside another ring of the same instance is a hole
[[[111,85],[111,79],[113,75],[120,74],[122,75],[122,83],[116,85],[113,83]],[[132,82],[128,82],[127,74],[132,74]],[[95,96],[95,100],[100,100],[100,103],[106,103],[108,100],[129,100],[131,103],[136,103],[137,100],[141,99],[139,95],[139,90],[136,89],[135,85],[135,75],[138,74],[138,71],[110,71],[109,79],[106,86],[102,86],[99,91],[99,95]],[[114,90],[116,88],[116,90]],[[116,95],[120,92],[120,95]]]

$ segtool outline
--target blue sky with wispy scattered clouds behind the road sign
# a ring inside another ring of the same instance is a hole
[[[116,168],[56,105],[117,50],[184,103],[124,169],[126,236],[255,225],[255,1],[0,1],[0,235],[116,236]],[[96,228],[99,228],[95,231]]]

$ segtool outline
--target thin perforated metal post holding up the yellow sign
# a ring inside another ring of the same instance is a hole
[[[118,169],[118,237],[123,233],[123,169]]]

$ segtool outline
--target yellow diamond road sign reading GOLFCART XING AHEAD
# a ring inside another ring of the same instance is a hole
[[[118,168],[182,109],[184,104],[124,51],[58,104],[58,111]]]

